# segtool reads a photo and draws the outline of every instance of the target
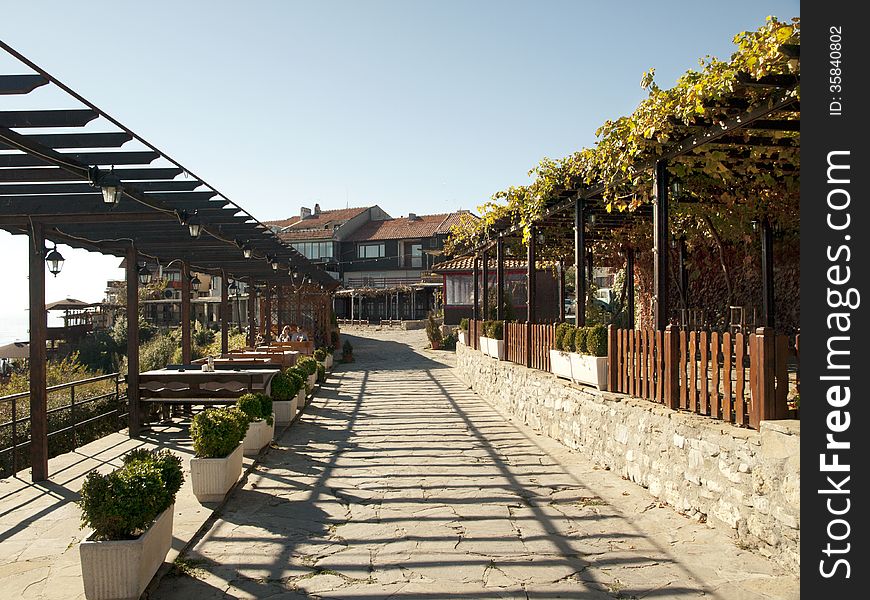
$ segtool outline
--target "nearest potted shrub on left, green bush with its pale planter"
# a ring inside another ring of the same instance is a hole
[[[79,544],[88,600],[139,598],[172,546],[181,459],[138,449],[123,461],[108,475],[92,471],[82,484],[82,527],[93,528]]]

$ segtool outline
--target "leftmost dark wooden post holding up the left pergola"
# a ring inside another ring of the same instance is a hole
[[[30,224],[30,464],[31,479],[48,479],[48,393],[45,383],[45,231]]]

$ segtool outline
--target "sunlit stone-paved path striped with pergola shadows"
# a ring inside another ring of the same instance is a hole
[[[723,532],[510,422],[417,332],[370,335],[151,598],[799,597]]]

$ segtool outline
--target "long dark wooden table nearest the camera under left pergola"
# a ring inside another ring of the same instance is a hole
[[[203,371],[201,365],[166,367],[139,374],[143,403],[235,404],[248,392],[271,393],[277,366]]]

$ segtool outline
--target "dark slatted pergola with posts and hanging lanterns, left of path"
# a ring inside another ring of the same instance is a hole
[[[141,261],[182,267],[182,350],[190,357],[191,271],[249,284],[330,293],[338,283],[283,243],[266,225],[205,179],[99,109],[0,41],[25,73],[0,74],[0,97],[24,97],[53,87],[71,103],[60,110],[0,110],[0,229],[29,236],[31,455],[34,481],[48,477],[45,384],[46,242],[126,258],[130,435],[138,411],[138,277]],[[97,125],[98,127],[93,127]],[[136,150],[122,147],[130,142]],[[150,166],[155,161],[160,164]],[[118,167],[118,168],[116,168]],[[183,178],[176,179],[180,175]],[[117,204],[103,200],[101,183],[119,182]],[[119,181],[118,181],[119,180]],[[189,225],[201,233],[193,237]],[[251,253],[245,258],[243,249]],[[292,274],[291,274],[292,273]],[[280,291],[278,292],[280,295]],[[253,303],[249,302],[253,324]],[[226,310],[222,310],[226,315]],[[267,321],[268,322],[268,321]],[[185,326],[186,325],[186,326]],[[222,317],[222,342],[228,335]],[[252,330],[253,337],[253,330]],[[41,342],[41,343],[40,343]]]

